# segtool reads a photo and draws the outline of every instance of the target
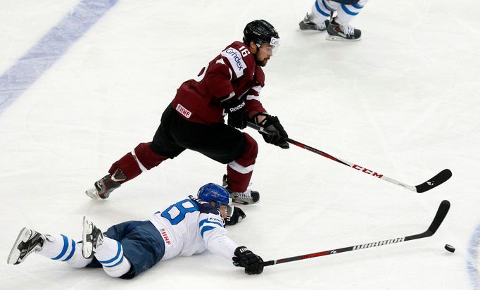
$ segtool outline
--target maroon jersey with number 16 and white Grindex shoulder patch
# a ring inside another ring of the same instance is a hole
[[[259,100],[265,74],[243,42],[234,42],[213,58],[198,76],[184,82],[172,101],[173,108],[191,122],[224,122],[220,99],[234,92],[245,99],[248,116],[266,112]]]

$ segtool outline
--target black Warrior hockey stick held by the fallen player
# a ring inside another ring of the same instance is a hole
[[[322,252],[317,252],[317,253],[309,253],[309,254],[306,254],[306,255],[295,256],[295,257],[290,257],[290,258],[283,258],[283,259],[278,259],[278,260],[269,260],[269,261],[263,262],[263,265],[264,266],[271,266],[271,265],[277,265],[277,264],[282,264],[282,263],[287,263],[287,262],[293,262],[293,261],[296,261],[296,260],[305,260],[305,259],[308,259],[308,258],[315,258],[315,257],[332,255],[332,254],[336,254],[336,253],[344,253],[344,252],[349,252],[349,251],[355,251],[355,250],[360,250],[362,248],[373,248],[373,247],[376,247],[376,246],[385,246],[385,245],[389,245],[389,244],[401,243],[403,241],[412,241],[414,239],[422,239],[422,238],[431,237],[435,234],[438,227],[440,227],[441,223],[443,222],[443,219],[446,217],[446,215],[448,213],[449,208],[450,208],[450,202],[449,201],[442,201],[440,203],[440,206],[438,207],[438,210],[436,211],[434,221],[431,222],[430,227],[425,232],[422,232],[422,234],[414,234],[412,236],[399,237],[399,238],[396,238],[396,239],[386,239],[384,241],[375,241],[373,243],[361,244],[361,245],[356,245],[356,246],[348,246],[346,248],[336,248],[336,249],[333,249],[333,250],[322,251]]]

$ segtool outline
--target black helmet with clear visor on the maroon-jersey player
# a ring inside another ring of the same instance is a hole
[[[251,41],[255,42],[258,47],[264,43],[272,46],[280,45],[280,37],[277,30],[265,20],[253,20],[245,26],[244,43],[250,44]]]

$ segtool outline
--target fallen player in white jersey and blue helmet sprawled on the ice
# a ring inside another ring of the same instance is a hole
[[[244,267],[248,275],[263,272],[263,260],[227,237],[225,222],[234,225],[246,215],[232,206],[220,185],[206,184],[197,198],[189,196],[153,214],[150,220],[122,222],[105,233],[83,220],[82,242],[63,234],[41,234],[23,228],[8,264],[19,264],[36,252],[72,267],[103,267],[111,277],[132,279],[160,260],[192,256],[209,250]]]

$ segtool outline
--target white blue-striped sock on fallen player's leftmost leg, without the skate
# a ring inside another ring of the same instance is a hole
[[[46,234],[46,241],[42,251],[38,253],[51,260],[67,262],[72,267],[85,267],[92,259],[82,256],[82,244],[77,244],[63,234]]]

